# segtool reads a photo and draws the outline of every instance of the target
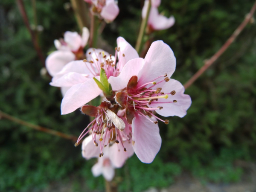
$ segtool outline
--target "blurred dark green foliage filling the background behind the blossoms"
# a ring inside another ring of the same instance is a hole
[[[31,23],[31,1],[25,0]],[[45,54],[67,30],[77,31],[69,1],[37,0],[38,33]],[[176,23],[147,39],[163,40],[173,49],[177,67],[173,79],[185,83],[213,55],[249,12],[253,0],[163,0],[160,12],[174,15]],[[124,37],[135,45],[141,2],[120,0],[120,14],[108,24],[103,39],[112,47]],[[88,123],[76,111],[60,115],[61,93],[41,76],[40,63],[29,32],[14,0],[0,2],[0,110],[28,122],[78,136]],[[120,191],[166,187],[182,171],[208,182],[236,182],[243,173],[236,160],[254,161],[256,147],[256,27],[249,24],[218,61],[186,90],[192,106],[184,118],[170,117],[160,124],[162,147],[151,164],[134,155],[117,170]],[[103,190],[94,178],[81,148],[52,135],[0,120],[0,191],[40,191],[53,182],[70,182]],[[157,170],[157,172],[155,171]],[[77,180],[76,180],[77,179]],[[85,182],[85,185],[83,183]]]

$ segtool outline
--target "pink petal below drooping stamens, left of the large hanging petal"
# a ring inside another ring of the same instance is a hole
[[[134,150],[131,144],[131,141],[123,141],[123,145],[126,148],[122,147],[121,143],[114,143],[109,147],[109,158],[113,163],[113,166],[120,168],[125,164],[125,161],[134,154]]]

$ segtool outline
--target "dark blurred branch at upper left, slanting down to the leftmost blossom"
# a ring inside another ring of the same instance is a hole
[[[44,58],[44,55],[43,55],[43,52],[42,52],[41,48],[39,47],[39,44],[38,44],[37,38],[35,36],[35,33],[30,28],[29,18],[28,18],[27,14],[26,14],[26,9],[25,9],[23,0],[16,0],[16,2],[17,2],[17,5],[18,5],[18,8],[20,10],[20,14],[21,14],[21,16],[23,18],[23,21],[24,21],[24,23],[26,25],[26,28],[29,30],[29,33],[30,33],[32,42],[34,44],[35,50],[36,50],[36,52],[38,54],[38,57],[40,58],[43,66],[45,66],[45,58]]]

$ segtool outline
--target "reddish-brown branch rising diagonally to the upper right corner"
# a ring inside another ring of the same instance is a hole
[[[233,34],[230,36],[230,38],[225,42],[225,44],[207,61],[205,61],[204,66],[202,66],[198,72],[196,72],[185,84],[185,89],[188,88],[198,77],[200,77],[205,70],[207,70],[232,44],[236,37],[241,33],[241,31],[244,29],[244,27],[249,23],[250,19],[253,17],[253,14],[256,10],[256,1],[253,4],[252,9],[250,10],[250,13],[246,15],[243,22],[239,25],[239,27],[233,32]]]

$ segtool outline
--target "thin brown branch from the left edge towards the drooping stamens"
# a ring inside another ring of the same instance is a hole
[[[55,130],[45,128],[45,127],[42,127],[42,126],[39,126],[39,125],[34,125],[32,123],[29,123],[29,122],[23,121],[21,119],[18,119],[14,116],[11,116],[7,113],[3,113],[2,111],[0,111],[0,118],[1,117],[5,118],[5,119],[9,119],[10,121],[16,122],[20,125],[25,125],[27,127],[33,128],[35,130],[43,131],[45,133],[52,134],[52,135],[55,135],[55,136],[58,136],[58,137],[62,137],[62,138],[67,139],[67,140],[72,140],[72,141],[76,142],[76,140],[78,139],[76,136],[69,135],[69,134],[64,134],[64,133],[61,133],[59,131],[55,131]]]

